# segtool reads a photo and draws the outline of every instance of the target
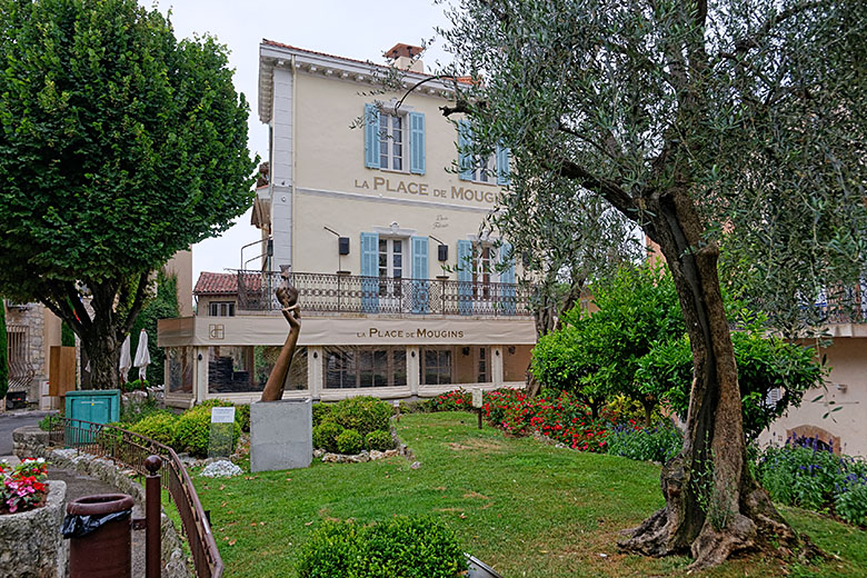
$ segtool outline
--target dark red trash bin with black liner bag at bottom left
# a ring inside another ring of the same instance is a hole
[[[69,538],[70,578],[130,578],[132,498],[84,496],[67,505],[60,531]]]

